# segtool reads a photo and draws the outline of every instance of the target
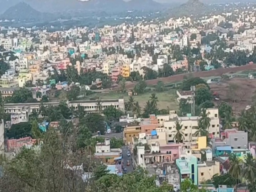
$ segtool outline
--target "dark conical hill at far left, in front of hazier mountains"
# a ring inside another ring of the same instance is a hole
[[[16,20],[16,21],[41,21],[47,20],[47,18],[53,17],[52,14],[41,13],[33,9],[25,2],[19,2],[18,4],[11,6],[1,16],[1,19]]]

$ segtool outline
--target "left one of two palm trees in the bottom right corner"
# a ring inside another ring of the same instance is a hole
[[[236,185],[238,184],[238,180],[241,176],[242,173],[242,160],[239,159],[236,154],[231,153],[229,155],[229,164],[230,164],[230,168],[229,168],[229,174],[235,178],[236,180]],[[237,191],[237,188],[236,188]]]

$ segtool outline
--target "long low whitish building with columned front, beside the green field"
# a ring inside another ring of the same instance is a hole
[[[67,101],[68,106],[74,107],[75,109],[78,106],[85,107],[86,112],[95,112],[97,111],[98,102],[100,102],[102,110],[107,108],[108,106],[113,106],[116,109],[119,109],[124,112],[124,99],[116,99],[116,100],[81,100],[81,101]],[[4,105],[5,113],[18,113],[23,110],[27,110],[28,113],[32,113],[33,111],[39,112],[41,103],[6,103]],[[44,106],[57,106],[59,102],[47,102],[44,103]]]

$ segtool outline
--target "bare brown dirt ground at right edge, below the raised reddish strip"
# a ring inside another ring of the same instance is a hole
[[[234,114],[238,115],[247,105],[251,105],[252,96],[256,95],[256,79],[221,80],[219,83],[210,84],[210,88],[219,94],[220,100],[215,101],[215,105],[222,101],[228,102]]]

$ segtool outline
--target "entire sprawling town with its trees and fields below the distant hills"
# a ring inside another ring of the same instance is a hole
[[[0,191],[255,192],[255,11],[0,27]]]

